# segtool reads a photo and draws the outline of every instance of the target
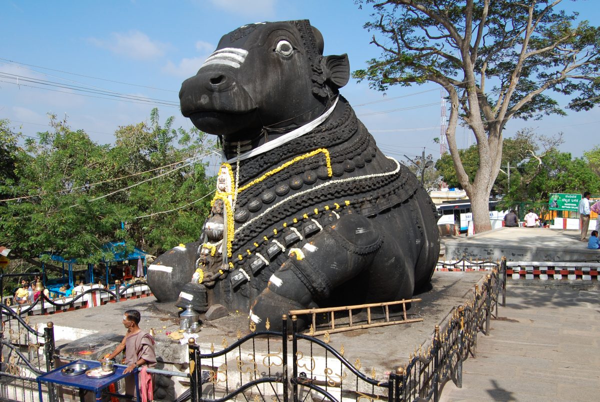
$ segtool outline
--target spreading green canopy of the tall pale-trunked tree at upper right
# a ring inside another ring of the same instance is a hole
[[[577,13],[554,10],[548,1],[491,1],[484,17],[485,2],[475,0],[469,7],[469,2],[456,0],[365,1],[373,5],[374,13],[364,28],[374,32],[373,43],[381,55],[368,60],[368,67],[354,71],[353,77],[367,80],[371,88],[380,91],[390,85],[445,79],[466,89],[467,83],[455,77],[469,69],[479,76],[475,84],[481,91],[481,78],[493,77],[493,88],[488,88],[487,94],[487,103],[493,106],[498,94],[506,95],[515,83],[517,70],[518,85],[506,98],[509,109],[535,94],[518,106],[515,117],[522,119],[565,113],[555,100],[537,93],[539,89],[572,95],[574,103],[568,109],[589,110],[600,102],[594,98],[600,86],[595,80],[600,28],[585,20],[575,23]],[[357,3],[362,5],[362,1]],[[533,21],[538,20],[535,26],[528,25],[529,7]],[[467,16],[470,32],[465,29]],[[521,48],[526,49],[525,55]],[[468,62],[457,54],[459,50],[469,53]],[[461,100],[470,110],[466,103],[466,98]]]

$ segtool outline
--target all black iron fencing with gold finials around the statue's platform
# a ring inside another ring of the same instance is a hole
[[[463,261],[455,262],[452,269],[462,270]],[[473,265],[473,263],[471,264]],[[436,326],[430,344],[422,344],[411,353],[407,364],[392,373],[376,375],[375,369],[362,367],[344,357],[343,346],[335,350],[329,344],[329,334],[323,339],[301,334],[292,317],[291,335],[288,335],[287,317],[282,319],[282,331],[255,331],[245,337],[238,332],[238,341],[228,345],[225,338],[222,349],[215,352],[214,344],[209,350],[190,338],[190,390],[178,401],[220,402],[246,401],[293,401],[323,400],[341,401],[352,398],[357,401],[418,401],[439,400],[443,385],[452,380],[462,385],[462,364],[469,355],[475,356],[479,332],[489,333],[490,319],[497,317],[499,296],[505,302],[506,260],[501,262],[477,262],[477,269],[486,269],[480,285],[473,289],[473,298],[455,307],[448,323]],[[466,267],[466,264],[464,265]],[[466,269],[466,268],[465,268]],[[91,289],[66,302],[73,305],[91,292],[102,292],[115,302],[134,283],[114,291]],[[55,359],[52,323],[43,332],[29,326],[28,317],[22,316],[37,303],[49,303],[64,308],[64,301],[50,300],[43,295],[33,305],[15,311],[0,304],[2,331],[0,348],[0,381],[11,385],[13,394],[6,394],[7,387],[0,389],[0,399],[36,400],[35,378],[52,370]],[[495,314],[494,314],[495,310]],[[292,353],[288,356],[288,343]],[[289,367],[292,364],[292,367]],[[160,371],[160,370],[159,370]],[[289,377],[289,374],[291,376]],[[60,395],[52,386],[45,390],[51,401]],[[61,395],[64,390],[60,390]],[[3,395],[4,392],[6,395]],[[20,392],[20,394],[19,394]],[[76,395],[76,391],[71,391]]]

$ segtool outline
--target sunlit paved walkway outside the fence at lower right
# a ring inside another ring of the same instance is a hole
[[[600,400],[600,292],[509,287],[499,316],[442,401]]]

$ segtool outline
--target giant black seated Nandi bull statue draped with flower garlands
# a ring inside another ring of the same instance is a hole
[[[439,254],[436,210],[386,157],[338,89],[347,55],[323,56],[308,20],[245,25],[179,92],[181,111],[227,159],[199,242],[158,257],[158,301],[247,312],[410,298]]]

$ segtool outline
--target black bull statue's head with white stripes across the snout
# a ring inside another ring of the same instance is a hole
[[[349,77],[347,55],[323,56],[308,20],[244,25],[184,81],[181,112],[226,144],[254,148],[320,116]]]

